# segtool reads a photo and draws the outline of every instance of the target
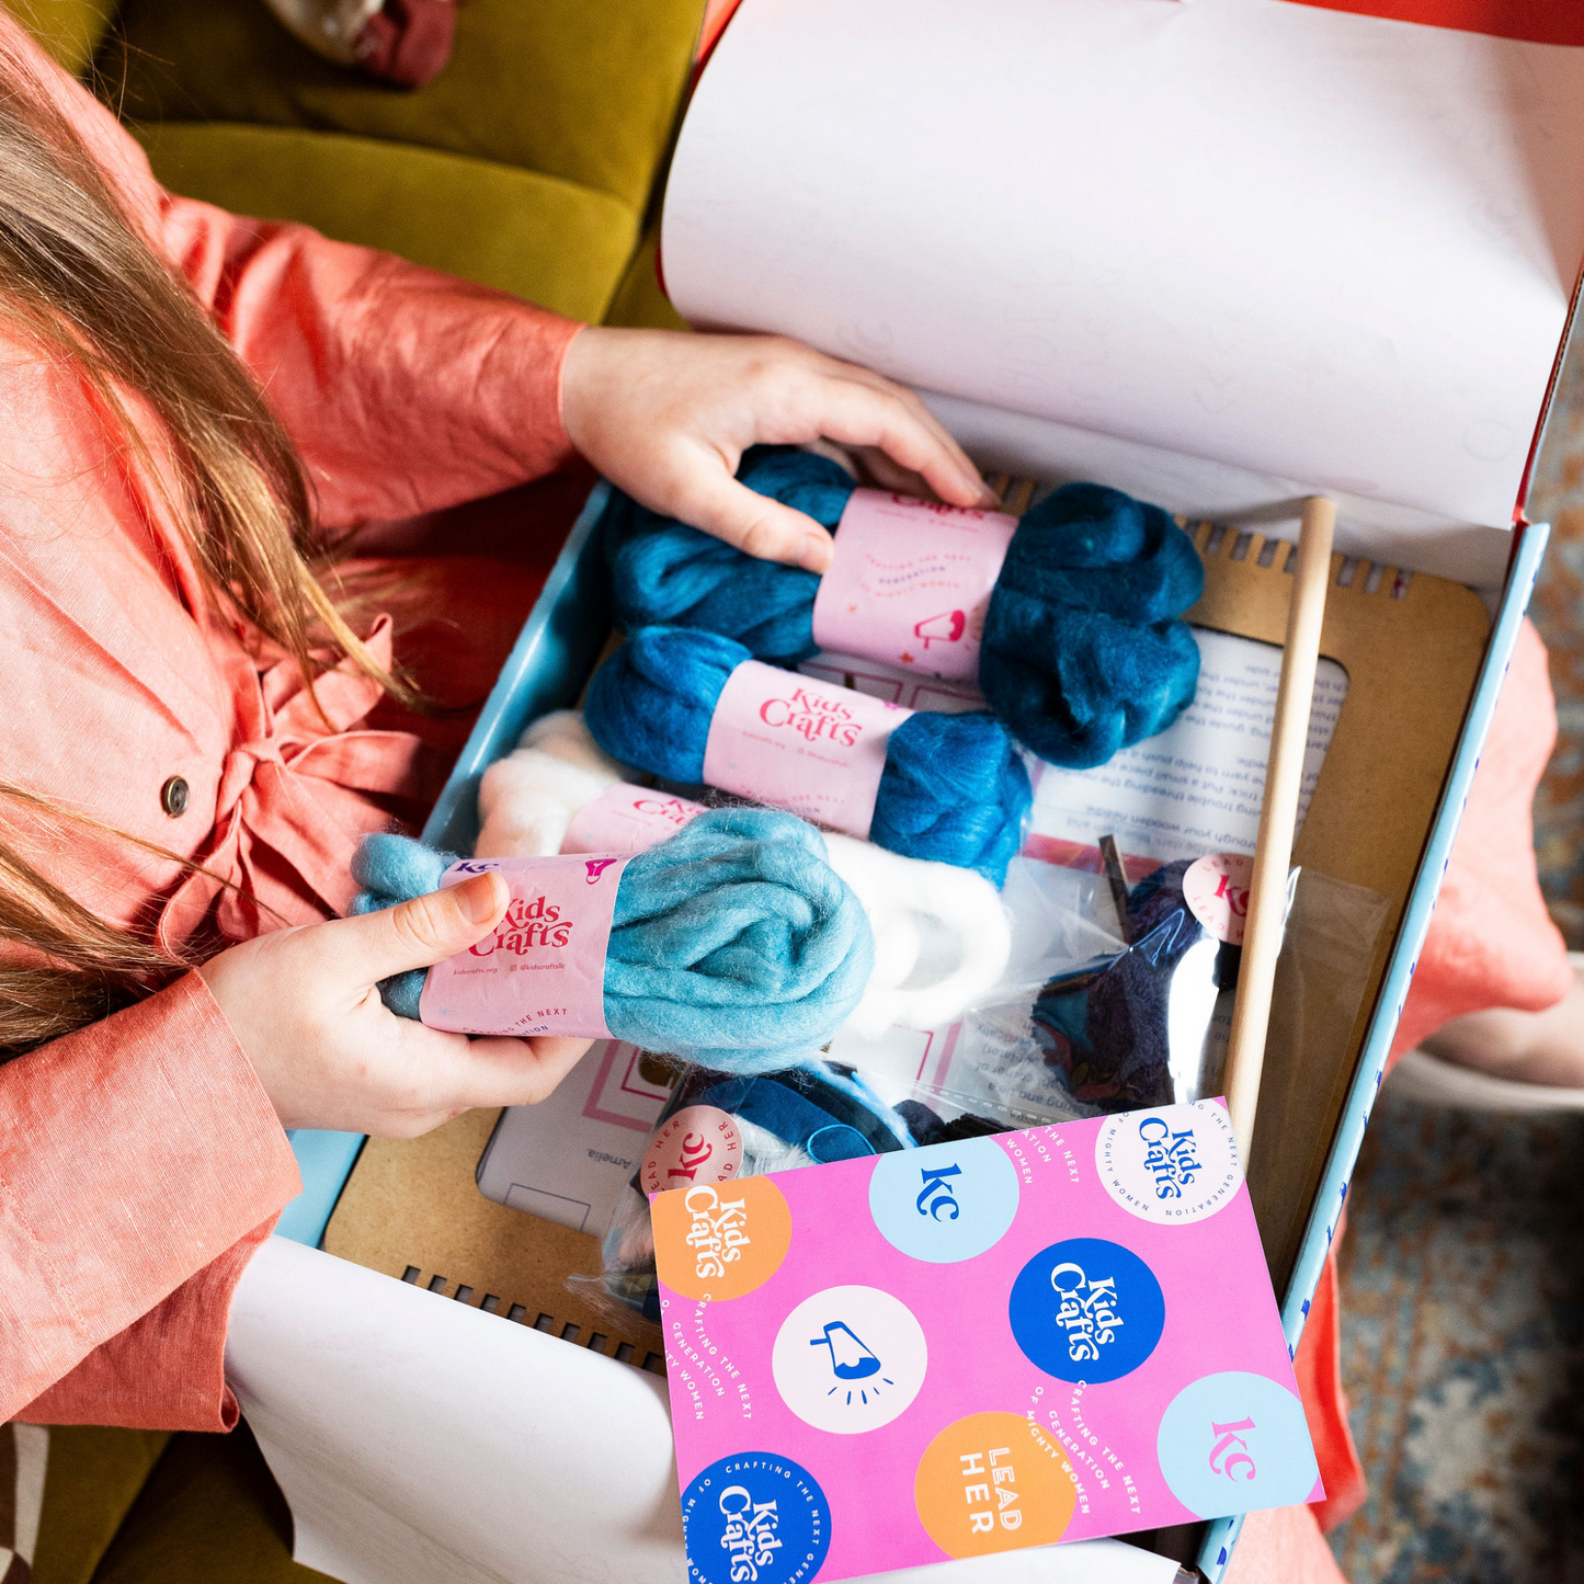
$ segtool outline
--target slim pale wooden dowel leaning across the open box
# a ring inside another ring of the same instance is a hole
[[[1259,1074],[1266,1061],[1266,1030],[1270,1025],[1270,988],[1281,954],[1286,919],[1288,870],[1293,862],[1293,830],[1297,797],[1304,784],[1304,751],[1308,746],[1308,710],[1315,695],[1319,661],[1319,627],[1331,583],[1331,542],[1337,527],[1337,504],[1324,496],[1304,502],[1297,535],[1297,567],[1293,604],[1288,608],[1286,643],[1281,648],[1281,681],[1270,725],[1270,757],[1266,762],[1266,800],[1259,809],[1255,841],[1255,873],[1243,922],[1243,958],[1237,969],[1232,1003],[1232,1034],[1226,1052],[1226,1106],[1232,1114],[1243,1166],[1255,1137]]]

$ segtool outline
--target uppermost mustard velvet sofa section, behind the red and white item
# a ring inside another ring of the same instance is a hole
[[[261,0],[128,0],[106,97],[139,122],[255,122],[421,144],[543,171],[643,209],[676,120],[703,0],[470,0],[418,92],[293,40]],[[125,68],[125,81],[119,81]]]

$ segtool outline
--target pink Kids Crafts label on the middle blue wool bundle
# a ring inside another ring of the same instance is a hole
[[[885,744],[911,710],[744,661],[710,721],[703,778],[722,792],[868,836]]]

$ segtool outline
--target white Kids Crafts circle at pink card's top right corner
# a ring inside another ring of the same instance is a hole
[[[1212,1099],[1107,1117],[1095,1169],[1123,1210],[1158,1226],[1215,1215],[1243,1180],[1232,1118]]]

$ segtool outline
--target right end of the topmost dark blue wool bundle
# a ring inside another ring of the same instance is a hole
[[[1041,759],[1102,765],[1193,703],[1199,645],[1177,618],[1202,588],[1199,551],[1159,507],[1063,485],[1012,535],[979,687]]]

